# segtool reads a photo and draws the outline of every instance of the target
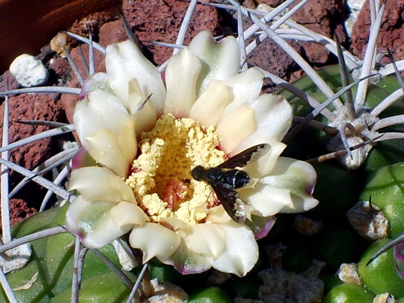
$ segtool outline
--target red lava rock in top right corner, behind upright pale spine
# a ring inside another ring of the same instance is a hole
[[[395,60],[404,59],[404,0],[386,0],[382,25],[377,38],[377,52],[386,52],[391,49]],[[365,2],[358,16],[357,22],[352,28],[352,53],[363,59],[368,44],[370,31],[369,1]],[[382,64],[389,63],[385,57]]]

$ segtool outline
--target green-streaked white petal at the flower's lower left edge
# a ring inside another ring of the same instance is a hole
[[[116,226],[109,211],[113,202],[90,202],[78,196],[66,213],[67,229],[89,248],[98,248],[127,233],[132,225]]]

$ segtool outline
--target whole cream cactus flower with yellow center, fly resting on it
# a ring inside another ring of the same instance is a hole
[[[86,80],[74,112],[96,163],[78,165],[69,182],[79,195],[67,227],[84,245],[100,247],[130,232],[143,262],[157,258],[182,274],[213,267],[243,276],[274,215],[318,204],[313,167],[280,157],[291,107],[281,96],[260,94],[257,68],[239,72],[238,49],[234,37],[216,42],[201,32],[161,74],[131,41],[106,48],[107,72]],[[254,182],[237,189],[247,217],[239,224],[191,171],[261,143],[270,145],[267,153],[240,168]]]

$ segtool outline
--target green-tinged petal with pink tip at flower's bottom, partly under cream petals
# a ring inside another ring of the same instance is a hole
[[[170,258],[158,258],[167,265],[173,265],[182,275],[198,274],[207,271],[212,267],[213,258],[204,257],[189,250],[186,244],[181,241],[177,250]]]

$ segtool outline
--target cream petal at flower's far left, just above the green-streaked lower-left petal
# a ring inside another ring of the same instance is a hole
[[[72,171],[69,190],[76,189],[88,201],[105,200],[119,202],[122,200],[135,203],[130,187],[106,167],[82,167]]]

